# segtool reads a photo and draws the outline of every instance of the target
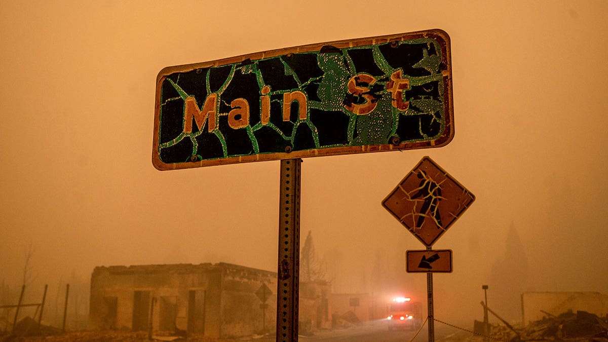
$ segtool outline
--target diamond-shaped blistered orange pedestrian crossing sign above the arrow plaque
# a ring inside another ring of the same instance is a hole
[[[425,156],[382,206],[430,247],[474,200],[469,190]]]

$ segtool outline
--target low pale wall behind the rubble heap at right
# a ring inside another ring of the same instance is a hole
[[[547,316],[541,310],[558,316],[568,310],[586,311],[604,316],[608,313],[608,296],[599,292],[525,292],[522,294],[524,324]]]

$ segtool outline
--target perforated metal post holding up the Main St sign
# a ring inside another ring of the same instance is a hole
[[[301,169],[302,159],[281,160],[278,201],[277,342],[298,340]]]

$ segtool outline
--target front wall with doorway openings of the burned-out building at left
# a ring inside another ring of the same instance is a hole
[[[97,267],[91,277],[89,326],[147,330],[151,309],[156,329],[187,330],[188,307],[196,305],[191,293],[196,299],[199,292],[204,310],[198,318],[190,316],[190,328],[213,333],[218,326],[219,304],[213,304],[219,303],[220,279],[221,272],[210,264]]]

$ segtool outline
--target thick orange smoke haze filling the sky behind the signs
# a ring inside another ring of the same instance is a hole
[[[405,271],[406,250],[424,246],[381,201],[428,155],[476,197],[434,245],[454,252],[453,273],[434,277],[437,318],[482,319],[482,284],[513,320],[523,291],[608,293],[606,13],[606,1],[2,1],[3,289],[18,295],[26,275],[32,296],[49,284],[60,298],[71,282],[86,302],[101,265],[276,271],[279,162],[154,169],[157,73],[438,28],[454,140],[304,159],[302,243],[312,231],[334,291],[425,301],[426,276]]]

